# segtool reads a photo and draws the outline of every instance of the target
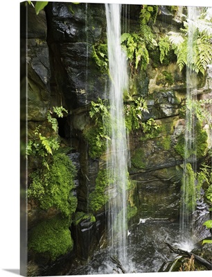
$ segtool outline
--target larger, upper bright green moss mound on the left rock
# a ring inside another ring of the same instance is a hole
[[[76,169],[64,154],[54,154],[52,159],[48,168],[43,167],[30,175],[32,182],[28,188],[28,197],[44,210],[55,207],[69,216],[77,206],[77,199],[71,194]]]

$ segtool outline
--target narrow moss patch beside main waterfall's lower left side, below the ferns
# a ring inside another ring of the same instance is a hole
[[[89,208],[96,212],[100,210],[108,201],[108,196],[105,195],[105,188],[109,186],[110,181],[107,177],[107,170],[100,170],[96,177],[96,188],[89,195]]]

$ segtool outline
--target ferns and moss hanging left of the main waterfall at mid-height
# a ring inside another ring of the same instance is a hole
[[[96,159],[105,152],[107,141],[110,141],[111,120],[107,100],[98,98],[98,102],[92,101],[89,116],[92,123],[85,128],[84,136],[89,143],[89,156]]]

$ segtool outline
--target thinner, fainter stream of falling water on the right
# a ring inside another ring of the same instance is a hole
[[[188,7],[188,46],[187,60],[195,60],[193,44],[195,42],[195,19],[197,18],[196,7]],[[196,116],[193,101],[197,100],[195,79],[189,66],[186,68],[186,129],[184,143],[184,175],[182,179],[182,198],[180,214],[179,241],[189,244],[193,224],[193,212],[195,211],[195,177],[197,168],[197,147],[195,138]]]

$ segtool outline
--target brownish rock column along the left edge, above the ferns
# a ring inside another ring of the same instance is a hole
[[[50,101],[51,70],[46,43],[46,15],[44,11],[36,15],[35,9],[29,6],[28,17],[28,120],[40,121],[46,119]]]

